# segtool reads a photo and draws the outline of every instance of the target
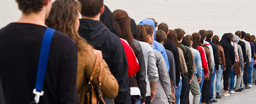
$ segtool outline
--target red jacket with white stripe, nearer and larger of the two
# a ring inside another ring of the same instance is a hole
[[[124,47],[124,51],[126,54],[127,62],[128,62],[128,77],[132,77],[139,71],[139,62],[134,54],[134,51],[128,44],[128,42],[122,38],[120,38],[122,46]]]

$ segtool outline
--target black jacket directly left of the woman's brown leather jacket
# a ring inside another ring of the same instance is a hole
[[[216,44],[211,42],[211,39],[206,38],[207,42],[210,43],[212,49],[213,49],[213,57],[214,57],[214,63],[215,63],[215,69],[218,71],[219,70],[219,53],[218,53],[218,47]],[[216,67],[217,66],[217,67]]]

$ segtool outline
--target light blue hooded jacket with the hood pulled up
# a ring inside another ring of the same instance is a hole
[[[152,20],[152,19],[144,19],[142,20],[141,22],[139,22],[139,25],[149,25],[149,26],[152,26],[154,28],[154,33],[155,33],[155,36],[154,36],[154,41],[153,41],[153,46],[154,46],[154,49],[156,49],[157,51],[160,51],[160,53],[163,55],[163,58],[165,59],[165,63],[166,63],[166,66],[167,66],[167,69],[168,69],[168,72],[169,72],[169,61],[168,61],[168,57],[167,57],[167,54],[166,54],[166,51],[165,51],[165,47],[163,47],[162,44],[160,44],[159,42],[156,41],[156,25],[155,25],[155,22]]]

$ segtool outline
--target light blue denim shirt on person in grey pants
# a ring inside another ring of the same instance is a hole
[[[198,78],[202,78],[202,61],[200,57],[200,53],[197,49],[192,48],[189,46],[191,49],[193,55],[194,55],[194,60],[195,60],[195,73]]]

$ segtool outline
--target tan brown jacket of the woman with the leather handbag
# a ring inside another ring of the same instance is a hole
[[[87,88],[87,81],[91,76],[93,66],[95,64],[96,55],[93,52],[93,47],[89,44],[84,44],[86,49],[84,51],[78,52],[78,62],[77,62],[77,75],[76,75],[76,89],[78,93],[78,99],[80,104],[85,104],[85,95]],[[101,80],[101,91],[103,97],[108,99],[114,99],[117,97],[119,85],[115,77],[109,71],[108,65],[104,59],[100,60],[102,62],[102,80]],[[92,80],[94,86],[98,86],[98,73],[100,65],[96,69],[95,76]]]

